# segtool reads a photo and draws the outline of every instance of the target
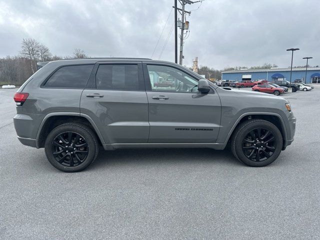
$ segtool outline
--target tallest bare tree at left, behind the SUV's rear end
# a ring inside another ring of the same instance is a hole
[[[30,59],[32,73],[36,71],[36,61],[39,58],[40,43],[33,38],[22,39],[20,55]]]

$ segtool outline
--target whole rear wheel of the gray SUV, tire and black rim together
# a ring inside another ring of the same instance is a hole
[[[89,127],[69,122],[50,131],[45,139],[44,150],[48,161],[55,168],[65,172],[76,172],[85,169],[95,160],[99,142]]]

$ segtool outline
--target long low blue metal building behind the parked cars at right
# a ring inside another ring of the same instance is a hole
[[[267,81],[272,80],[290,80],[290,68],[267,68],[267,69],[241,69],[223,71],[223,80],[261,80],[266,79]],[[306,72],[305,68],[292,68],[291,81],[300,79],[305,83],[320,83],[320,67],[309,67]]]

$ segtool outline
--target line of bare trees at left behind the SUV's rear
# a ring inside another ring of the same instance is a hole
[[[21,49],[17,55],[0,58],[0,85],[22,84],[37,71],[39,61],[53,61],[70,58],[88,57],[79,48],[74,48],[73,55],[53,55],[49,48],[33,38],[23,38]]]

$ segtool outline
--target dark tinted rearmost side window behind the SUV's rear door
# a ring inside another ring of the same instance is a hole
[[[46,87],[84,88],[93,65],[62,66],[45,82]]]

